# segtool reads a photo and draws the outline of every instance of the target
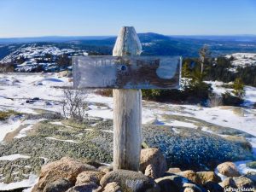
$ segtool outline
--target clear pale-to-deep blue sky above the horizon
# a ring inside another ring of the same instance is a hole
[[[0,38],[256,34],[256,0],[0,0]]]

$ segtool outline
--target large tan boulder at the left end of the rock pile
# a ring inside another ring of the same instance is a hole
[[[96,171],[96,168],[94,166],[83,164],[78,160],[64,157],[61,160],[51,162],[42,167],[38,188],[44,189],[46,184],[53,183],[59,178],[66,178],[74,184],[79,173],[84,171]]]

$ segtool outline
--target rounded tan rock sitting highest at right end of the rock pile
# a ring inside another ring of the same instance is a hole
[[[226,177],[239,177],[240,173],[236,165],[232,162],[224,162],[217,166],[217,170],[219,173],[223,174]]]

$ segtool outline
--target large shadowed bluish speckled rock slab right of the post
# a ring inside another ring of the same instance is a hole
[[[168,118],[183,120],[183,117],[165,115],[165,119]],[[220,162],[228,160],[253,159],[251,151],[224,137],[185,127],[175,127],[175,130],[166,125],[143,125],[143,143],[148,148],[160,148],[170,167],[200,172],[207,168],[214,169]],[[220,127],[218,130],[226,131],[227,129]]]

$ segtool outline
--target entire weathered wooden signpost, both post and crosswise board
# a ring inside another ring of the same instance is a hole
[[[142,45],[132,26],[121,28],[113,56],[73,57],[76,89],[113,89],[113,169],[139,170],[142,145],[142,92],[175,89],[179,56],[138,56]]]

